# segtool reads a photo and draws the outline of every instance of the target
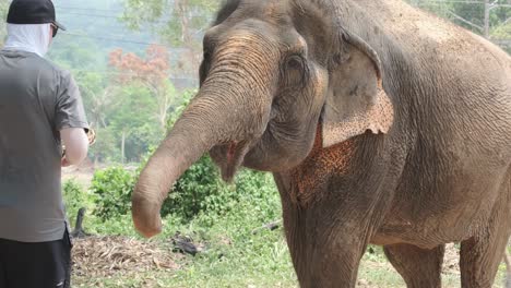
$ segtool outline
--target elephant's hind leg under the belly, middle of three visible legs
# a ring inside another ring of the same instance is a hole
[[[394,244],[385,245],[383,250],[408,288],[441,287],[445,245],[425,250],[411,244]]]

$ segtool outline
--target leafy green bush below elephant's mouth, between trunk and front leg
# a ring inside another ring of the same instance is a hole
[[[188,223],[199,214],[211,219],[249,204],[262,218],[273,217],[276,189],[269,173],[241,170],[234,184],[224,183],[207,155],[193,164],[174,185],[162,206],[162,216],[173,215]]]

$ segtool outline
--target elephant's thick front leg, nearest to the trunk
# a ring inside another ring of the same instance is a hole
[[[283,202],[287,243],[301,288],[354,288],[368,239],[381,219],[379,214],[353,215],[363,209],[331,203],[302,208]]]

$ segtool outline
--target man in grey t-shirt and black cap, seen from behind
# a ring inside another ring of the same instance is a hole
[[[61,166],[85,158],[88,125],[73,77],[43,58],[59,28],[50,0],[10,5],[0,51],[1,288],[70,285]]]

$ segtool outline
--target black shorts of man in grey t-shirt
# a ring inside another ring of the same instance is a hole
[[[22,243],[0,239],[0,288],[69,288],[71,239]]]

